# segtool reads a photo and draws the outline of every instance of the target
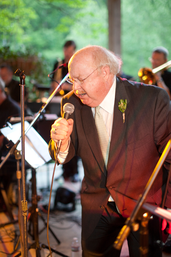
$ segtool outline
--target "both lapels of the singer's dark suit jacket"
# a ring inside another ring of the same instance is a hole
[[[129,103],[129,98],[125,90],[124,83],[116,78],[116,93],[115,93],[115,105],[113,113],[113,126],[112,126],[112,135],[111,143],[109,150],[109,159],[108,159],[108,171],[113,170],[113,165],[115,165],[121,146],[123,143],[126,127],[127,127],[127,115],[129,113],[129,108],[127,107],[125,111],[125,123],[123,123],[123,117],[121,111],[118,109],[118,102],[123,99],[127,99],[127,105]],[[101,153],[101,147],[99,143],[99,137],[97,134],[97,129],[95,126],[95,121],[93,118],[93,113],[91,107],[83,105],[80,110],[82,117],[82,124],[84,128],[84,133],[86,135],[88,144],[105,176],[107,176],[107,170],[105,168],[105,163]],[[108,174],[109,175],[109,174]]]

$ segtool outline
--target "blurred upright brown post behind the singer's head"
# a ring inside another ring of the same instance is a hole
[[[121,55],[121,0],[108,0],[109,50]]]

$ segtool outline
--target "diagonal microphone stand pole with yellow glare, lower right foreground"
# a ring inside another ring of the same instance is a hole
[[[131,228],[133,228],[134,231],[138,230],[138,229],[134,229],[134,226],[137,225],[137,222],[135,222],[135,220],[139,219],[140,213],[142,212],[142,206],[143,206],[143,204],[146,200],[146,196],[147,196],[152,184],[154,183],[154,180],[155,180],[156,176],[158,175],[158,172],[160,171],[160,168],[162,167],[162,165],[163,165],[163,163],[164,163],[164,161],[165,161],[165,159],[166,159],[166,157],[167,157],[167,155],[170,151],[170,148],[171,148],[171,138],[169,139],[166,147],[164,148],[164,151],[163,151],[160,159],[158,160],[158,163],[156,164],[156,167],[154,168],[154,171],[152,172],[152,175],[150,176],[150,178],[149,178],[149,180],[148,180],[148,182],[145,186],[143,194],[140,195],[139,200],[137,201],[137,204],[136,204],[133,212],[131,213],[131,216],[129,218],[127,218],[127,220],[125,222],[125,225],[123,226],[123,228],[119,232],[119,234],[116,238],[116,241],[113,244],[115,249],[121,250],[122,245],[123,245],[123,241],[129,235],[129,233],[131,231]],[[142,219],[144,218],[143,220],[145,221],[144,222],[144,232],[146,234],[146,229],[147,229],[148,220],[149,220],[148,212],[147,212],[147,215],[145,215],[145,216],[141,215]],[[142,223],[142,221],[141,221],[141,223]],[[142,234],[143,234],[143,232],[142,232]],[[147,242],[146,239],[145,239],[145,242]],[[145,244],[143,242],[143,246],[142,246],[142,248],[140,248],[141,256],[144,256],[144,257],[146,256],[146,254],[147,254],[146,253],[146,248],[147,247],[145,247]]]

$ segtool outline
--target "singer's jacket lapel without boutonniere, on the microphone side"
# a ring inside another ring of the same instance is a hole
[[[95,121],[93,117],[93,113],[91,111],[91,107],[87,105],[83,105],[81,109],[81,117],[82,117],[82,124],[84,128],[84,133],[86,135],[88,144],[97,160],[101,170],[104,172],[105,176],[107,175],[105,163],[103,160],[99,137],[97,134],[97,129],[95,126]]]

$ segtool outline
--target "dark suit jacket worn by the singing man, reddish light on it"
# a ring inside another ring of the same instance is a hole
[[[118,102],[127,99],[125,123],[118,109]],[[135,202],[144,191],[164,147],[171,136],[171,105],[165,90],[155,86],[127,81],[117,77],[115,106],[109,160],[107,170],[103,161],[99,138],[91,107],[82,104],[70,92],[62,99],[75,107],[72,119],[74,127],[66,162],[74,154],[82,158],[84,179],[81,190],[82,238],[93,232],[111,194],[123,217],[130,216]],[[50,142],[50,154],[54,159],[54,142]],[[160,170],[146,202],[160,205],[168,162]],[[165,206],[171,208],[171,190]]]

